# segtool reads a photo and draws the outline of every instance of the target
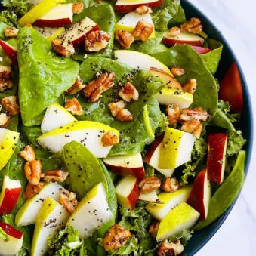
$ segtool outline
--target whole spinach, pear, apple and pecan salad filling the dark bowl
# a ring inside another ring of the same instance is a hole
[[[2,5],[0,254],[182,254],[244,181],[221,42],[179,0]]]

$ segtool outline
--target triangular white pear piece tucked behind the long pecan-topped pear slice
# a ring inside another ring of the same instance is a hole
[[[45,132],[52,131],[75,121],[76,118],[63,106],[53,103],[46,109],[45,116],[42,119],[41,130],[44,134]]]

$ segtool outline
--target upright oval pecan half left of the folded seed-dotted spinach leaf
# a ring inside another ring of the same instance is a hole
[[[40,160],[32,160],[26,162],[24,166],[24,171],[27,180],[29,180],[29,183],[32,185],[39,184],[40,177],[41,177],[41,171],[42,171],[42,164]]]

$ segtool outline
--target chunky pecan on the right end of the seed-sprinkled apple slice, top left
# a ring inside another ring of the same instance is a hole
[[[85,51],[99,52],[103,48],[106,48],[110,41],[110,36],[107,32],[102,30],[91,31],[85,35]]]

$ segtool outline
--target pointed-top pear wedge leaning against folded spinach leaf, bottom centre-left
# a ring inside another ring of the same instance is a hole
[[[93,187],[79,202],[69,217],[67,225],[79,230],[79,234],[86,238],[112,217],[113,213],[109,210],[106,192],[103,184],[100,183]]]

